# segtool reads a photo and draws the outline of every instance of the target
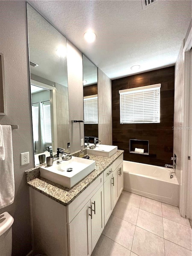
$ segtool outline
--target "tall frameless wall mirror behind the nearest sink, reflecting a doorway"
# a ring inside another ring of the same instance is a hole
[[[46,146],[69,152],[66,38],[27,4],[35,165]]]

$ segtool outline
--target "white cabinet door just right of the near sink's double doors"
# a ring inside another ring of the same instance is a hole
[[[104,221],[105,225],[113,212],[113,185],[111,183],[113,173],[110,173],[109,178],[104,183]]]

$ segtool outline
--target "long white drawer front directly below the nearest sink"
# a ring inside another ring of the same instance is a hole
[[[103,185],[103,173],[94,180],[68,207],[68,223],[80,212],[88,200],[95,194],[96,191]]]

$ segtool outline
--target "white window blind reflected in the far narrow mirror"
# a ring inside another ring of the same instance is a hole
[[[84,103],[84,123],[98,124],[98,95],[85,96]]]

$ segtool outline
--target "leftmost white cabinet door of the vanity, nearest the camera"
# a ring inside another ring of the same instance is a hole
[[[91,255],[90,200],[69,224],[70,256]]]

